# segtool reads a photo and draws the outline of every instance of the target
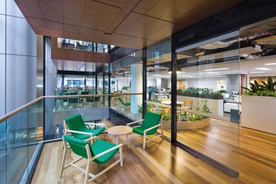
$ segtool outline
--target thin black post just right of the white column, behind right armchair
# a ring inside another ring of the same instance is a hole
[[[144,115],[146,115],[146,53],[147,52],[147,47],[143,48],[143,54],[142,54],[142,60],[143,60],[143,95],[142,95],[142,100],[143,100],[143,118]]]

